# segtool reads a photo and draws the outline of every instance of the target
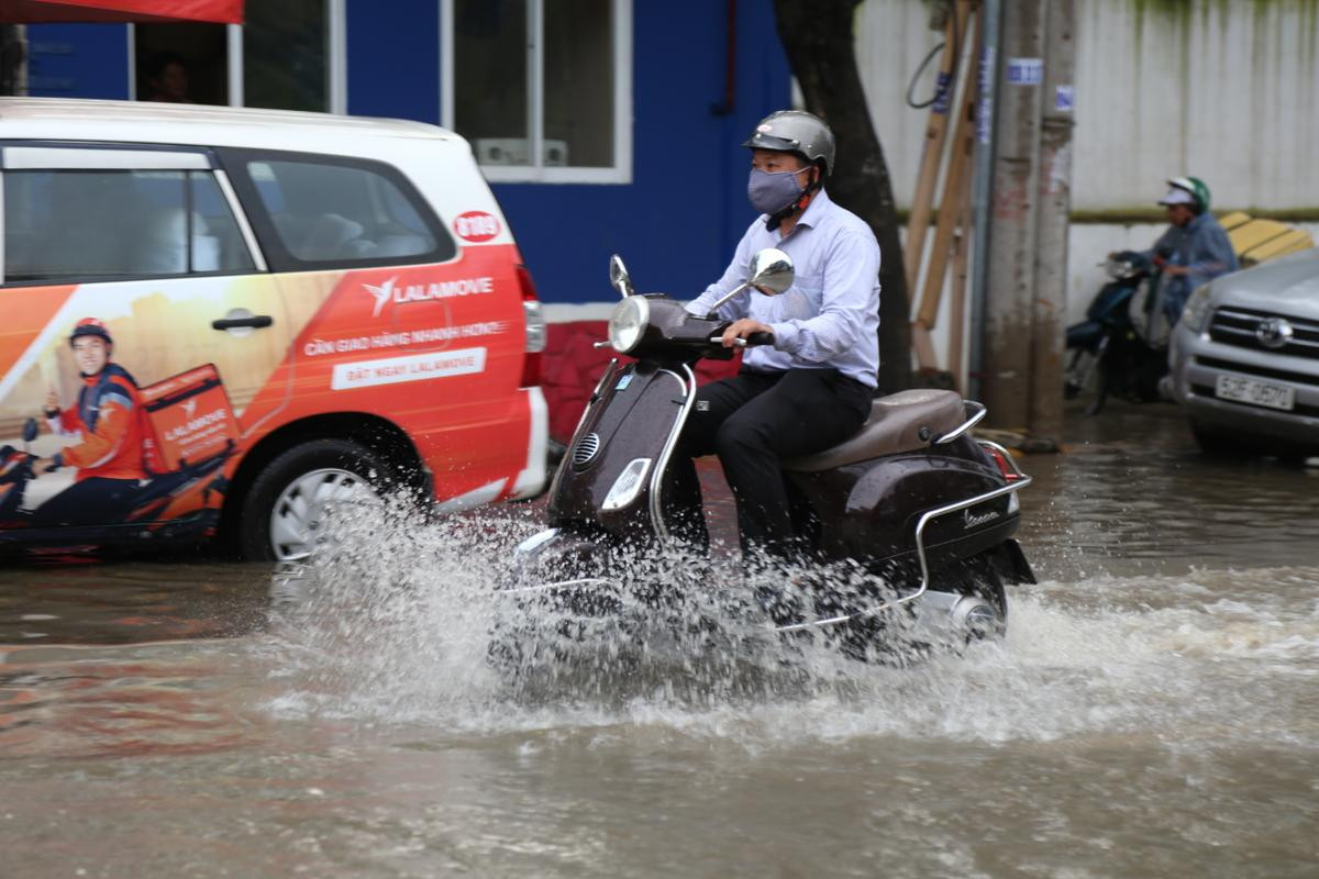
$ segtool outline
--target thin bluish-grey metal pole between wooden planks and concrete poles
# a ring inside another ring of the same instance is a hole
[[[1001,0],[984,0],[980,7],[981,42],[979,96],[976,100],[976,154],[972,178],[971,253],[971,347],[967,357],[967,394],[980,397],[980,369],[984,357],[985,290],[989,281],[989,207],[993,199],[995,99],[998,94],[998,34],[1002,24]]]

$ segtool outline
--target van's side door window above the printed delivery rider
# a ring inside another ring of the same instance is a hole
[[[210,171],[4,175],[5,283],[252,271]]]

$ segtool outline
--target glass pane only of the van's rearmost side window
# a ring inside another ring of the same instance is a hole
[[[261,158],[245,163],[261,207],[301,264],[443,261],[454,244],[383,173],[352,163]]]

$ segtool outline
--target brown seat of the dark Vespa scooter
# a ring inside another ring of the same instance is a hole
[[[783,461],[785,470],[814,473],[872,457],[914,452],[962,427],[967,420],[962,395],[951,390],[904,390],[880,397],[871,405],[871,418],[848,440],[815,455]]]

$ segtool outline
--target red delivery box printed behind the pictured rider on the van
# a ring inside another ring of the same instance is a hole
[[[165,472],[228,453],[239,441],[237,419],[212,364],[158,381],[140,393],[156,439],[156,457]]]

